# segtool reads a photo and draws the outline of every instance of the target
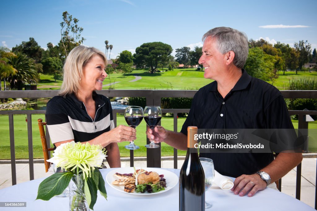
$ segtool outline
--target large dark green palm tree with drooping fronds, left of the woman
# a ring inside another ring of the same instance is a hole
[[[11,89],[22,90],[25,82],[38,82],[39,76],[34,68],[34,61],[25,54],[18,53],[17,55],[8,56],[8,64],[17,70],[15,74],[11,74],[8,78]]]

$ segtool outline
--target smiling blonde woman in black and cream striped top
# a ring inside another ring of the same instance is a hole
[[[108,98],[97,94],[107,77],[106,55],[96,48],[77,46],[64,64],[64,79],[58,96],[47,103],[46,121],[55,147],[66,142],[101,144],[111,168],[120,167],[118,142],[135,140],[132,127],[114,128]]]

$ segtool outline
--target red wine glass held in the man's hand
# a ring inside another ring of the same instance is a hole
[[[154,127],[159,124],[162,118],[162,110],[159,106],[146,106],[144,108],[144,120],[146,124],[152,129],[154,135]],[[155,137],[155,135],[154,135]],[[146,148],[158,148],[159,145],[154,144],[154,140],[150,140],[150,144],[146,144]]]

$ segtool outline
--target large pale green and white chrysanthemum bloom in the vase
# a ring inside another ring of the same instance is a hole
[[[82,172],[84,179],[91,177],[94,168],[101,167],[103,159],[107,157],[101,145],[81,144],[74,141],[58,146],[53,156],[48,160],[49,162],[77,175]]]

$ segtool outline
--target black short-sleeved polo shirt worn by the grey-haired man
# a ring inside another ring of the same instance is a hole
[[[225,98],[217,90],[217,81],[198,90],[181,133],[187,135],[188,126],[198,129],[294,128],[280,91],[251,77],[244,69]],[[220,174],[232,177],[253,174],[274,159],[272,153],[200,153],[199,156],[211,158]]]

